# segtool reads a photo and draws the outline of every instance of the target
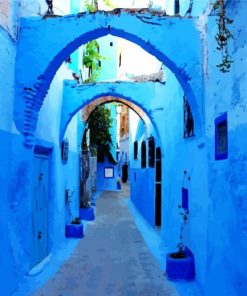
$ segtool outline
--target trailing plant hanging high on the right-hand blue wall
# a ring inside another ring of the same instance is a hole
[[[233,20],[226,16],[224,0],[217,0],[213,5],[213,10],[217,12],[217,26],[218,32],[215,36],[217,42],[217,49],[221,51],[222,62],[217,65],[219,70],[223,73],[229,72],[233,60],[228,52],[228,41],[233,38],[228,25],[233,23]]]

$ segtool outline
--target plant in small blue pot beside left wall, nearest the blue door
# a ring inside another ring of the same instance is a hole
[[[79,217],[73,218],[70,204],[72,201],[72,195],[74,194],[74,191],[70,191],[69,189],[65,190],[65,203],[68,208],[68,215],[70,219],[70,223],[67,223],[65,225],[65,236],[66,237],[72,237],[72,238],[82,238],[83,237],[83,224],[81,223],[81,220]]]

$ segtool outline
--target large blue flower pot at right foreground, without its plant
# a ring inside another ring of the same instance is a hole
[[[195,261],[193,253],[186,247],[184,258],[173,258],[176,253],[166,255],[166,274],[167,278],[172,281],[195,279]]]

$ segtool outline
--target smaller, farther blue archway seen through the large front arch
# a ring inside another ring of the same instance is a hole
[[[161,140],[159,122],[156,120],[155,113],[153,114],[159,96],[153,94],[162,93],[164,88],[165,84],[160,82],[118,82],[114,86],[112,83],[99,83],[95,88],[94,84],[76,86],[73,81],[66,81],[60,121],[60,143],[62,143],[66,128],[72,117],[80,109],[93,101],[99,101],[102,97],[106,97],[105,102],[112,101],[111,97],[117,98],[114,101],[124,101],[124,104],[131,109],[137,106],[140,110],[138,115],[146,123],[147,119],[150,120],[157,137]],[[150,104],[150,98],[153,100],[152,105]]]

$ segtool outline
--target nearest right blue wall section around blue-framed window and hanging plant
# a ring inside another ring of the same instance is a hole
[[[206,138],[209,164],[209,210],[207,241],[207,295],[245,295],[247,245],[247,116],[246,1],[229,1],[226,13],[233,18],[228,42],[234,61],[229,73],[216,65],[221,54],[216,50],[215,18],[209,17],[205,43]],[[222,113],[228,117],[228,158],[215,160],[214,120]],[[220,276],[215,276],[220,275]]]

